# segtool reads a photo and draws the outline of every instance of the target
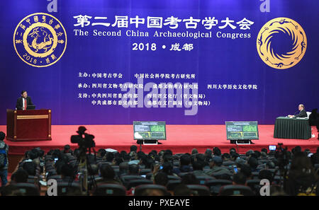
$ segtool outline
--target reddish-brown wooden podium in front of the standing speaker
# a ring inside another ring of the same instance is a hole
[[[6,110],[6,139],[43,141],[51,139],[51,110]]]

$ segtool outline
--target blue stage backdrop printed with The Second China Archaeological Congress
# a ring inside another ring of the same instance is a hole
[[[0,124],[274,124],[318,107],[313,0],[1,1]]]

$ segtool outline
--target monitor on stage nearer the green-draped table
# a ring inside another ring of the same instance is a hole
[[[229,121],[225,123],[228,140],[259,139],[257,121]]]

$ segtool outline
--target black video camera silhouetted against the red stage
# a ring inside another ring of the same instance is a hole
[[[78,144],[80,150],[86,151],[86,149],[91,149],[95,147],[94,135],[86,134],[86,127],[80,126],[77,130],[78,135],[71,136],[71,142]]]

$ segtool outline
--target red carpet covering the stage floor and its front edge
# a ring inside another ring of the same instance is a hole
[[[21,155],[31,148],[40,147],[45,152],[52,148],[63,148],[69,144],[72,149],[77,148],[76,144],[71,144],[70,136],[76,134],[78,125],[52,125],[52,141],[25,141],[12,142],[9,144],[9,153]],[[86,125],[87,133],[94,134],[96,141],[96,151],[99,148],[114,148],[118,151],[129,151],[130,146],[135,144],[133,140],[133,125]],[[269,145],[276,145],[278,142],[284,143],[289,150],[295,146],[303,149],[309,148],[315,152],[319,146],[317,129],[313,127],[314,138],[302,139],[274,139],[274,125],[259,125],[259,140],[254,140],[252,145],[238,146],[239,153],[245,153],[249,149],[261,150],[268,148]],[[6,132],[6,126],[0,126],[0,131]],[[148,153],[152,149],[160,151],[171,149],[173,153],[191,153],[192,148],[197,148],[198,152],[203,153],[206,148],[218,146],[223,153],[235,144],[230,144],[226,140],[225,125],[167,125],[167,140],[159,141],[159,145],[142,145],[142,151]],[[135,144],[138,146],[138,144]],[[140,150],[138,146],[138,150]]]

